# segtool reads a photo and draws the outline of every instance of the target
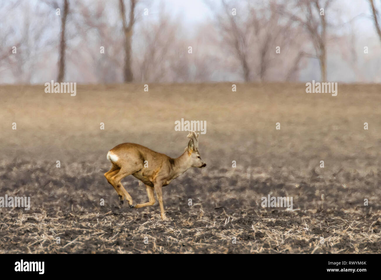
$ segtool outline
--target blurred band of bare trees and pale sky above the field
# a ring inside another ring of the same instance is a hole
[[[381,82],[381,1],[181,1],[0,0],[0,83]]]

